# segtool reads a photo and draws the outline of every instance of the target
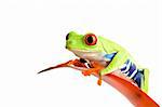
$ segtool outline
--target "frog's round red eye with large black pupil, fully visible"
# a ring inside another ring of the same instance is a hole
[[[87,34],[84,37],[84,41],[87,45],[94,45],[97,43],[97,37],[93,34]]]

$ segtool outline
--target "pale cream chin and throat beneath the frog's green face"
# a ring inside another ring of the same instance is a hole
[[[107,66],[109,63],[105,59],[104,54],[100,52],[76,49],[70,49],[69,51],[71,51],[76,56],[85,59],[86,62],[98,62],[103,66]]]

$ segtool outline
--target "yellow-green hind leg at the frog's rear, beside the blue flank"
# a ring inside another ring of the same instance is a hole
[[[141,90],[145,93],[148,93],[148,83],[149,82],[149,70],[144,68],[144,81],[141,82]]]

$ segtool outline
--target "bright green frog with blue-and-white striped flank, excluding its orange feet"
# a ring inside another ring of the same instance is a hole
[[[100,76],[120,69],[147,93],[148,70],[140,68],[121,45],[100,36],[95,37],[93,34],[83,36],[71,31],[67,35],[66,48],[81,58],[104,65],[105,69],[99,71]]]

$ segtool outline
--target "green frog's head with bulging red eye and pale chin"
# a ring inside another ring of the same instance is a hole
[[[66,49],[78,57],[90,61],[103,61],[104,48],[99,38],[94,34],[79,35],[70,31],[66,36]]]

